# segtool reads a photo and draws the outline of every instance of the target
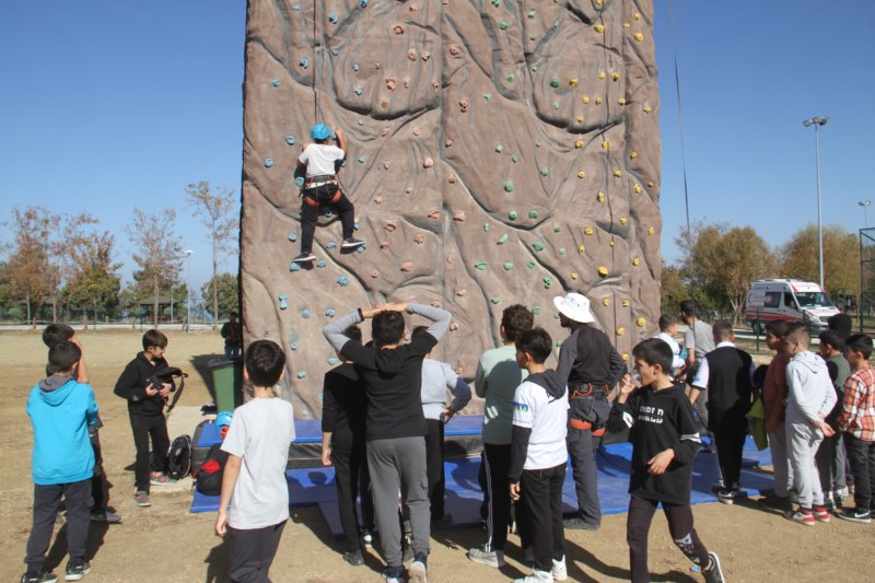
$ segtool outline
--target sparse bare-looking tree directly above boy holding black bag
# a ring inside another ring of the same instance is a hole
[[[159,323],[161,281],[175,281],[183,266],[182,237],[176,235],[176,211],[164,209],[145,213],[133,209],[132,222],[125,228],[136,249],[131,254],[140,276],[152,283],[154,325]]]

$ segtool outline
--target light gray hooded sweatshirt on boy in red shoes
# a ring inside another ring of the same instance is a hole
[[[786,365],[790,390],[786,422],[819,424],[836,406],[836,390],[827,363],[814,352],[800,352]]]

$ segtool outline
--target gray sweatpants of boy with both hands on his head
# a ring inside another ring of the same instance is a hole
[[[425,467],[424,436],[368,442],[376,527],[389,567],[401,564],[398,492],[410,515],[413,552],[429,555],[431,503]]]

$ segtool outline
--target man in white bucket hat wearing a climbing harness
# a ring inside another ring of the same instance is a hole
[[[626,373],[626,363],[595,322],[590,300],[580,293],[553,298],[559,323],[571,335],[559,351],[557,373],[568,383],[571,409],[568,412],[568,453],[574,473],[579,515],[564,521],[565,528],[597,530],[602,526],[598,503],[597,438],[605,434],[610,413],[608,393]],[[596,438],[596,439],[594,439]]]

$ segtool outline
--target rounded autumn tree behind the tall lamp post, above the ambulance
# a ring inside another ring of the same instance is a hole
[[[798,230],[780,249],[781,275],[819,281],[817,225]],[[824,287],[836,298],[860,295],[860,240],[841,225],[824,226]]]

